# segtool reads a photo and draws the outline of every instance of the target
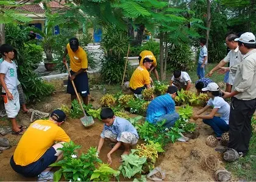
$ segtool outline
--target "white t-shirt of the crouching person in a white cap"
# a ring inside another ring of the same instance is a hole
[[[208,106],[213,106],[213,108],[218,108],[218,112],[221,115],[221,119],[226,121],[229,124],[229,112],[230,106],[224,101],[220,96],[215,96],[214,99],[210,98],[207,103]]]

